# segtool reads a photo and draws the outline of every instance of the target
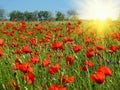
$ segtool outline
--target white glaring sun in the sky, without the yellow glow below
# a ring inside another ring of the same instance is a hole
[[[99,19],[107,18],[117,19],[119,15],[119,0],[80,0],[75,1],[78,8],[79,18]]]

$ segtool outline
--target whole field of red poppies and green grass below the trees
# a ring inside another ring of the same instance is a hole
[[[0,90],[119,90],[120,23],[96,23],[1,21]]]

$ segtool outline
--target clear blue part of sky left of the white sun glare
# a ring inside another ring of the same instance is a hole
[[[72,0],[0,0],[0,8],[4,8],[7,12],[12,10],[19,11],[63,11],[74,9]]]

